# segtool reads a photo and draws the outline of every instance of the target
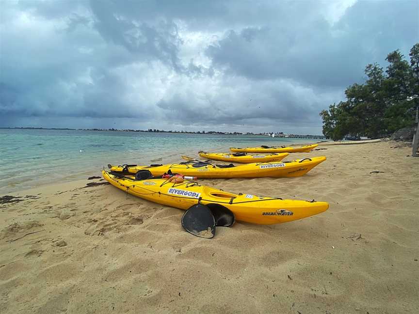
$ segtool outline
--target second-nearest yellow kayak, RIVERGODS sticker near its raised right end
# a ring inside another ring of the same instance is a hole
[[[111,171],[135,174],[139,170],[149,170],[153,176],[165,173],[179,173],[202,178],[262,178],[262,177],[297,177],[326,160],[326,157],[295,159],[286,162],[259,162],[235,166],[216,165],[208,162],[186,161],[167,165],[108,165]]]

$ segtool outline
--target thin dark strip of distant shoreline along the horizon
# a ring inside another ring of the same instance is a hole
[[[145,132],[145,133],[184,133],[184,134],[221,134],[221,135],[264,135],[268,136],[272,133],[253,133],[253,132],[220,132],[220,131],[166,131],[159,129],[148,129],[148,130],[134,130],[134,129],[99,129],[99,128],[59,128],[59,127],[0,127],[0,129],[16,129],[16,130],[69,130],[69,131],[106,131],[106,132]],[[287,134],[284,136],[284,133],[274,133],[276,138],[307,138],[307,139],[326,139],[322,135],[310,135],[310,134]]]

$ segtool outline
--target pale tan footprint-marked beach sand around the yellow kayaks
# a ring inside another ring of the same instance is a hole
[[[15,193],[21,202],[0,204],[0,313],[418,313],[410,153],[387,141],[332,145],[289,156],[327,156],[303,177],[201,181],[330,203],[304,220],[217,228],[210,240],[183,231],[182,210],[110,185]]]

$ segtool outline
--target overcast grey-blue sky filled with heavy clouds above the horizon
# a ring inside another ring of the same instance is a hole
[[[419,1],[0,0],[0,126],[322,133]]]

